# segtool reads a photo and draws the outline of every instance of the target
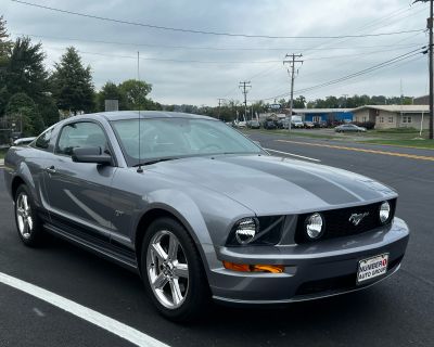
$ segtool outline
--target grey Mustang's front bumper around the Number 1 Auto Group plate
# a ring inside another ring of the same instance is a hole
[[[365,288],[395,273],[407,248],[409,229],[398,218],[381,230],[307,245],[220,247],[219,261],[284,265],[283,273],[212,269],[208,281],[216,300],[232,304],[284,304]],[[361,259],[388,253],[386,274],[356,284]]]

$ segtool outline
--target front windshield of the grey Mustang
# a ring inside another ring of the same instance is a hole
[[[237,130],[210,119],[125,119],[112,121],[112,126],[129,166],[162,158],[264,153]]]

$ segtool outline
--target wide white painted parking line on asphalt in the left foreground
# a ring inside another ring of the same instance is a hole
[[[131,326],[120,323],[107,316],[104,316],[90,308],[74,303],[58,294],[43,290],[37,285],[13,278],[9,274],[0,272],[0,283],[14,287],[18,291],[35,296],[38,299],[59,307],[60,309],[69,312],[78,318],[81,318],[89,323],[98,325],[137,346],[168,347],[166,344],[163,344],[158,339],[143,334]]]

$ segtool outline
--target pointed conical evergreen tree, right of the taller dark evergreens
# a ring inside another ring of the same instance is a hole
[[[91,68],[85,67],[74,47],[68,47],[60,63],[54,64],[51,89],[60,110],[91,112],[94,106]]]

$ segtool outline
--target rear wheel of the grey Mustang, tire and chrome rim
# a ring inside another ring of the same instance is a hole
[[[43,240],[42,223],[36,213],[30,191],[21,184],[15,193],[15,223],[22,242],[29,247],[39,246]]]

